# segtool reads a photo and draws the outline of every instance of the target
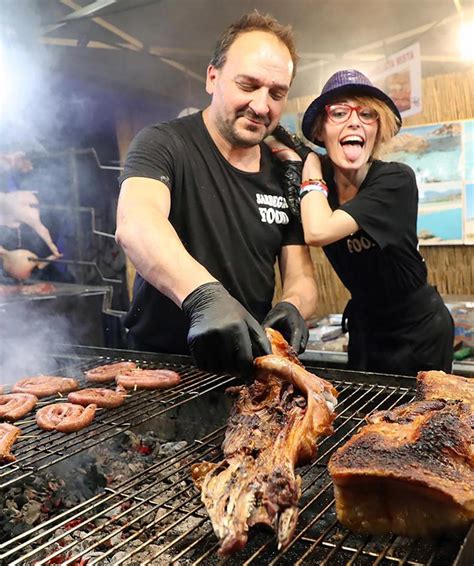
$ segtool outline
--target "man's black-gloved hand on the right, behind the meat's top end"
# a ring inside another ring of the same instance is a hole
[[[277,303],[265,317],[262,326],[281,332],[297,354],[304,352],[309,330],[300,311],[291,303]]]

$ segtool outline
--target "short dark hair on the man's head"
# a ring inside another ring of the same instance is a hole
[[[271,33],[286,45],[293,61],[292,79],[296,74],[298,54],[296,52],[295,40],[291,26],[283,26],[270,14],[260,14],[257,10],[244,14],[235,23],[231,24],[218,38],[214,47],[210,65],[220,69],[225,65],[227,52],[234,41],[244,33],[251,31],[263,31]]]

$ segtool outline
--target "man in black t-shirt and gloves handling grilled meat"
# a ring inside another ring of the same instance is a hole
[[[313,268],[262,143],[281,117],[296,59],[289,28],[247,14],[217,42],[210,105],[133,140],[116,233],[138,272],[124,320],[130,348],[191,353],[204,370],[241,375],[270,353],[261,324],[304,350]],[[276,259],[282,299],[272,308]]]

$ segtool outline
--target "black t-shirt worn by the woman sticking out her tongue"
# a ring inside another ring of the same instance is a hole
[[[387,306],[421,287],[426,265],[418,252],[418,188],[401,163],[374,161],[359,192],[339,205],[330,163],[324,163],[329,204],[354,218],[360,230],[324,246],[352,297],[368,308]]]

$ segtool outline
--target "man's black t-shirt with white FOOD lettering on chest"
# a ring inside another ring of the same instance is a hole
[[[187,251],[259,321],[271,308],[282,246],[304,244],[283,196],[278,163],[265,144],[261,154],[260,172],[236,169],[198,113],[139,132],[120,177],[157,179],[170,189],[169,220]],[[188,351],[182,311],[139,275],[124,322],[151,350]]]

